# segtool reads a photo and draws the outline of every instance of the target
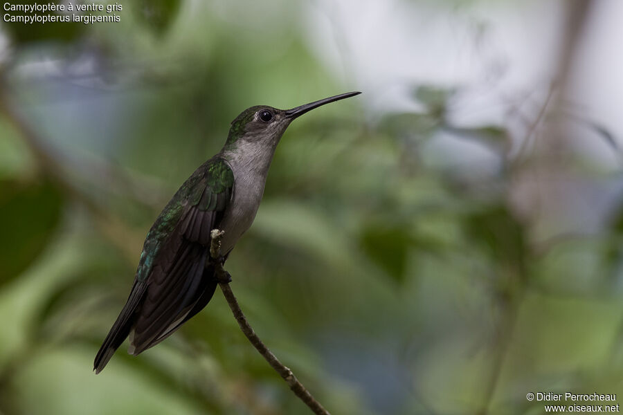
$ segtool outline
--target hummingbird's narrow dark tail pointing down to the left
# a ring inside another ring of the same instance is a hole
[[[115,351],[123,343],[123,340],[129,335],[132,324],[134,324],[134,319],[132,318],[134,316],[134,311],[136,311],[136,306],[138,306],[138,303],[143,299],[146,286],[147,284],[144,282],[134,282],[134,286],[132,286],[132,291],[127,298],[125,306],[123,306],[123,310],[119,313],[119,317],[117,317],[117,320],[110,329],[93,362],[93,370],[96,371],[96,374],[104,369]]]

